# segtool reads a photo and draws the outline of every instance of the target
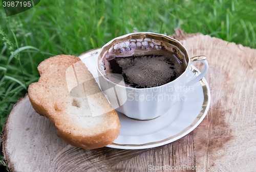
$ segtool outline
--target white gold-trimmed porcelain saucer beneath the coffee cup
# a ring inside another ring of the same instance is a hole
[[[96,82],[96,58],[100,49],[80,56],[80,59],[93,74]],[[188,80],[199,75],[198,69],[191,65]],[[139,121],[118,113],[121,129],[118,138],[107,147],[117,149],[146,149],[161,146],[187,135],[204,119],[210,106],[209,86],[203,78],[184,95],[187,99],[179,101],[165,115],[156,119]]]

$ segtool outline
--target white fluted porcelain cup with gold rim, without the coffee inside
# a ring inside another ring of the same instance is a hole
[[[169,51],[178,51],[180,57],[184,58],[186,64],[185,71],[174,81],[157,87],[126,87],[123,80],[114,83],[106,77],[104,72],[102,73],[101,59],[108,54],[109,51],[113,51],[114,45],[127,40],[135,40],[136,42],[151,40],[155,45],[164,46],[166,49],[168,48]],[[204,70],[199,76],[187,82],[189,66],[194,62],[202,62],[204,64]],[[177,102],[184,101],[182,99],[184,91],[193,87],[193,84],[199,82],[205,76],[208,71],[208,62],[205,56],[189,58],[186,48],[174,38],[163,34],[141,32],[123,35],[106,43],[101,48],[97,57],[97,71],[100,87],[102,91],[108,95],[108,99],[116,111],[130,118],[150,120],[165,114]]]

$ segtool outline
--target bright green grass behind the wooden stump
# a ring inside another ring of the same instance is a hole
[[[134,30],[171,35],[176,28],[255,48],[255,14],[255,1],[241,0],[44,0],[10,17],[1,4],[0,27],[19,50],[11,54],[0,35],[0,128],[28,85],[38,80],[37,65],[52,55],[78,56]]]

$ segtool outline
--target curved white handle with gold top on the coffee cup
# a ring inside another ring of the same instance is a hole
[[[190,66],[191,64],[195,63],[195,62],[201,62],[201,63],[203,63],[203,64],[204,64],[204,70],[200,73],[199,76],[197,76],[196,78],[194,78],[194,79],[192,79],[191,81],[187,82],[187,83],[186,83],[186,86],[191,86],[191,85],[197,83],[198,81],[200,81],[200,80],[205,76],[205,74],[206,74],[207,71],[208,71],[209,65],[208,65],[208,62],[207,62],[205,56],[194,56],[194,57],[190,58],[190,64],[189,64],[189,66]]]

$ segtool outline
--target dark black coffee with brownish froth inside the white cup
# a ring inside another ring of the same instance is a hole
[[[110,72],[123,76],[125,84],[135,88],[164,85],[177,79],[186,68],[176,53],[163,50],[151,55],[110,56]]]

